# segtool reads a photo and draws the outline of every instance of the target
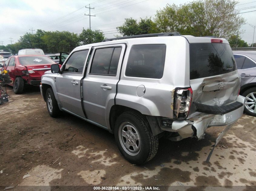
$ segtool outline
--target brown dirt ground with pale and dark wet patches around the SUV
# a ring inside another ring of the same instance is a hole
[[[244,114],[215,148],[209,164],[204,161],[223,127],[209,128],[200,141],[160,139],[155,158],[134,166],[106,130],[68,113],[50,117],[38,87],[20,95],[7,90],[12,102],[0,106],[2,189],[141,185],[256,190],[250,187],[256,186],[256,117]]]

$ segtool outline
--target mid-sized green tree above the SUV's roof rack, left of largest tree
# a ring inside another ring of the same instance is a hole
[[[149,33],[159,33],[156,24],[151,18],[140,19],[139,22],[133,18],[126,18],[125,23],[116,28],[119,33],[123,36],[131,36],[138,34],[149,34]]]

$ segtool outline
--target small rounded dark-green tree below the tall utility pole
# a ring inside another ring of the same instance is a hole
[[[79,41],[81,45],[99,43],[102,40],[104,40],[104,34],[98,30],[92,31],[90,29],[85,30],[83,28],[82,32],[79,34]]]

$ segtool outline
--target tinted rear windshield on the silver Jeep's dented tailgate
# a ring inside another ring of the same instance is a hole
[[[229,44],[191,43],[190,79],[205,78],[236,70]]]

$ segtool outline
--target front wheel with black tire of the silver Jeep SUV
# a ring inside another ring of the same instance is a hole
[[[55,99],[54,93],[52,91],[52,88],[48,88],[45,93],[45,100],[46,100],[46,106],[48,113],[52,117],[57,117],[60,114],[60,109],[58,107],[58,103]]]

